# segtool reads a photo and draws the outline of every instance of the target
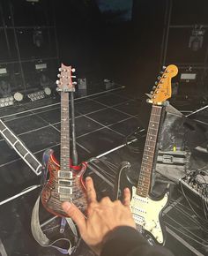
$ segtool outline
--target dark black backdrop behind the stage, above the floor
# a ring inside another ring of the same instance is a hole
[[[167,6],[172,4],[170,25],[188,27],[169,29],[165,64],[199,66],[204,83],[200,90],[207,87],[207,32],[201,49],[188,47],[189,26],[208,24],[206,0],[132,0],[126,1],[128,13],[119,1],[107,1],[108,11],[103,2],[1,0],[0,68],[8,73],[0,79],[8,79],[13,92],[30,91],[39,87],[41,72],[55,81],[56,68],[63,62],[74,65],[79,78],[114,79],[148,92],[164,64]],[[33,39],[37,32],[39,47]],[[47,69],[35,70],[40,63]]]

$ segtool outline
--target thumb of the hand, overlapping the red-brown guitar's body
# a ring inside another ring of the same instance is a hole
[[[80,234],[84,233],[86,229],[85,215],[83,215],[82,212],[79,211],[78,207],[69,202],[64,202],[62,207],[63,211],[72,219],[73,222],[78,225],[78,230]]]

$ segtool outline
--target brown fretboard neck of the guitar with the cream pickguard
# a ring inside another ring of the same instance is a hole
[[[150,190],[152,165],[160,126],[161,110],[161,106],[152,105],[152,112],[145,140],[145,149],[137,184],[137,195],[141,197],[147,197]]]

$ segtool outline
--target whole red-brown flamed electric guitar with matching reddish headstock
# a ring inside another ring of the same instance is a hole
[[[74,92],[74,82],[71,66],[62,64],[58,74],[57,91],[61,93],[61,154],[60,163],[56,161],[53,150],[49,150],[46,167],[49,172],[48,182],[42,189],[42,205],[53,215],[65,217],[62,209],[63,201],[71,201],[82,212],[85,212],[85,183],[83,174],[85,168],[74,170],[70,163],[70,118],[69,93]],[[44,155],[43,155],[44,159]]]

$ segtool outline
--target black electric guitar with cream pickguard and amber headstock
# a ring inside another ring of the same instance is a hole
[[[160,222],[162,209],[167,205],[168,192],[160,198],[153,199],[150,195],[152,167],[160,127],[161,110],[164,102],[171,97],[171,79],[178,69],[175,65],[168,65],[161,72],[156,87],[153,87],[151,99],[152,112],[145,140],[137,187],[132,187],[130,209],[137,224],[137,229],[144,233],[148,240],[163,245],[165,242],[164,229]]]

